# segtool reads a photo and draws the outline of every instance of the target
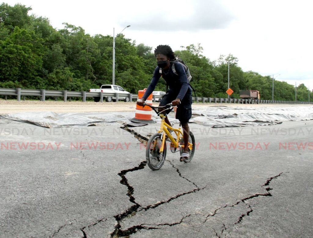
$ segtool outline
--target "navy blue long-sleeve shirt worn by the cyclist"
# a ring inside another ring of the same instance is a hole
[[[171,62],[171,65],[170,65],[168,72],[167,72],[167,70],[165,70],[165,72],[164,72],[162,69],[162,78],[165,79],[169,89],[172,90],[173,93],[178,94],[176,98],[179,98],[180,100],[182,100],[183,97],[185,96],[187,90],[191,90],[191,88],[188,84],[186,72],[185,72],[183,65],[179,62],[175,63],[175,70],[176,70],[176,73],[178,74],[177,75],[172,70],[172,64],[173,63]],[[142,98],[147,99],[148,96],[155,89],[156,84],[161,77],[161,74],[159,71],[160,71],[159,66],[156,66],[156,68],[153,72],[151,83],[149,84],[149,86],[148,86],[145,94],[142,96]]]

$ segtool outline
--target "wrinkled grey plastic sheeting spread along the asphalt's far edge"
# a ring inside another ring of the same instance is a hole
[[[15,121],[32,123],[42,127],[84,127],[104,126],[113,124],[127,124],[130,126],[143,126],[143,123],[130,121],[135,112],[103,112],[103,113],[54,113],[31,112],[11,113],[2,118]],[[152,111],[152,119],[160,122],[160,118]],[[169,119],[177,123],[174,114],[170,113]],[[281,124],[283,121],[312,120],[313,106],[291,107],[226,107],[208,106],[206,108],[194,106],[190,123],[210,127],[242,127],[257,125]]]

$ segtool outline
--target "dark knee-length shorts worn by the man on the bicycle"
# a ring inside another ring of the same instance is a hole
[[[159,106],[165,106],[166,104],[171,103],[177,98],[177,95],[178,93],[167,90],[166,94],[162,97]],[[188,90],[176,110],[176,119],[178,119],[181,123],[189,122],[189,119],[191,118],[191,104],[192,94],[191,90]],[[168,114],[169,112],[166,111],[166,113]]]

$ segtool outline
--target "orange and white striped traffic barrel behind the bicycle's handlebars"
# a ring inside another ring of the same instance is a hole
[[[143,94],[145,94],[147,89],[143,89],[143,90],[139,90],[138,91],[138,99],[140,100],[143,96]],[[149,97],[146,99],[146,104],[149,104],[152,106],[152,94],[149,95]],[[142,123],[142,122],[146,122],[146,123],[154,123],[154,121],[151,119],[151,112],[152,109],[148,106],[144,106],[141,107],[138,104],[136,104],[136,113],[135,113],[135,117],[133,119],[131,119],[132,122],[138,122],[138,123]]]

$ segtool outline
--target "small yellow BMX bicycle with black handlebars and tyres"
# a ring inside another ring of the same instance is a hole
[[[148,144],[146,147],[146,161],[151,170],[159,170],[164,164],[166,158],[166,140],[167,138],[170,140],[170,148],[171,152],[178,152],[179,149],[180,154],[182,155],[182,151],[184,149],[184,139],[183,132],[181,129],[181,124],[179,123],[178,129],[171,127],[165,122],[166,110],[171,111],[175,107],[172,106],[172,103],[167,104],[162,107],[154,107],[149,104],[144,104],[144,106],[149,106],[153,109],[157,115],[161,117],[161,127],[160,130],[153,134],[148,140]],[[177,108],[177,107],[176,107]],[[161,112],[157,112],[156,109],[165,109]],[[169,129],[172,132],[169,132]],[[171,133],[175,133],[174,138]],[[189,139],[188,139],[188,153],[189,156],[184,160],[185,163],[188,163],[192,160],[193,154],[195,152],[195,138],[191,131],[189,131]]]

